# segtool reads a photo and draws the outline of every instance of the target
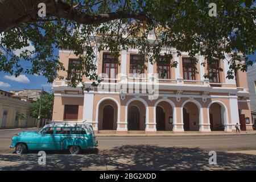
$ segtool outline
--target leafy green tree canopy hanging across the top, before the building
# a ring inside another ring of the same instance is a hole
[[[42,2],[46,16],[39,17]],[[216,3],[216,16],[209,15],[210,3]],[[255,6],[250,0],[1,0],[0,71],[43,75],[52,82],[62,78],[57,71],[65,70],[55,49],[71,49],[81,60],[81,75],[97,83],[95,46],[117,57],[122,49],[138,48],[150,63],[159,60],[164,48],[171,67],[177,66],[171,59],[176,48],[178,55],[188,52],[193,74],[196,55],[212,61],[228,54],[227,77],[233,78],[234,70],[246,71],[252,64],[247,55],[255,51],[255,30]],[[148,39],[152,34],[154,41]],[[31,44],[34,49],[27,49]],[[16,49],[23,51],[16,55]],[[24,67],[21,59],[31,66]],[[73,75],[72,86],[76,80],[82,78]]]

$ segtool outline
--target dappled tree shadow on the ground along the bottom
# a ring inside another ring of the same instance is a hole
[[[108,154],[63,155],[48,153],[46,166],[35,154],[0,155],[1,170],[255,170],[255,155],[217,152],[210,165],[209,151],[200,148],[124,145]]]

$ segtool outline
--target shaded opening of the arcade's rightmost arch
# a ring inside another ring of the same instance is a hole
[[[224,131],[224,115],[222,106],[218,103],[213,103],[209,107],[209,119],[211,131]]]

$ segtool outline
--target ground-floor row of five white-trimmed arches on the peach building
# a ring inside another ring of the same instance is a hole
[[[148,106],[142,99],[133,100],[129,104],[123,105],[122,108],[126,108],[126,113],[124,111],[120,113],[125,115],[126,122],[125,119],[123,119],[123,122],[118,122],[118,109],[122,105],[118,105],[117,102],[106,99],[100,103],[98,107],[98,130],[118,131],[121,128],[122,130],[119,131],[147,131],[147,129],[150,129],[150,131],[232,131],[233,129],[231,124],[230,126],[225,125],[225,122],[230,121],[230,116],[227,114],[229,111],[222,102],[221,104],[218,101],[205,104],[208,105],[208,107],[204,106],[207,111],[200,113],[202,106],[197,101],[186,101],[183,102],[183,106],[175,106],[174,108],[174,104],[171,105],[166,100],[160,101],[155,106]],[[149,122],[146,121],[147,109],[148,116],[154,115],[154,121],[152,121],[153,119]],[[176,110],[176,116],[174,109]],[[208,112],[208,115],[205,114],[206,112]],[[179,114],[181,115],[180,120],[177,119]],[[200,121],[200,118],[203,121]],[[178,126],[179,122],[182,126],[179,130],[175,130],[175,124]],[[122,127],[120,127],[121,125]]]

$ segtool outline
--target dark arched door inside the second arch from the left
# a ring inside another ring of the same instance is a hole
[[[139,109],[137,106],[131,106],[128,111],[128,130],[139,130]]]

